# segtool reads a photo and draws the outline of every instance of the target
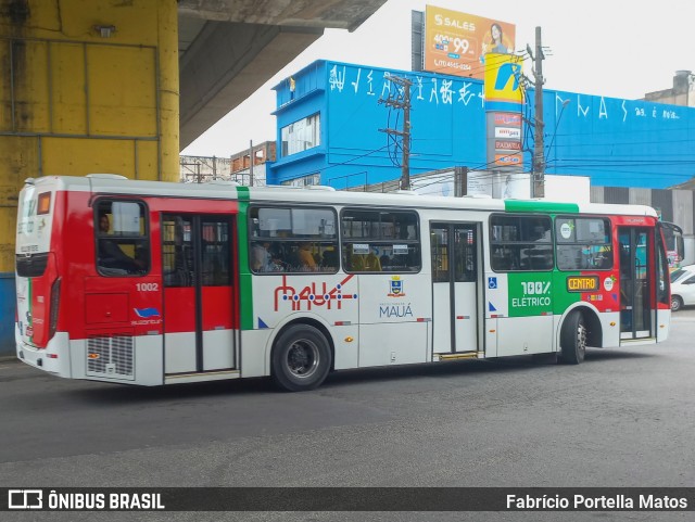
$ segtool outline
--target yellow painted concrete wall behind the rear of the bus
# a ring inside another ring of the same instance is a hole
[[[24,179],[178,180],[177,30],[176,0],[0,0],[0,272]]]

